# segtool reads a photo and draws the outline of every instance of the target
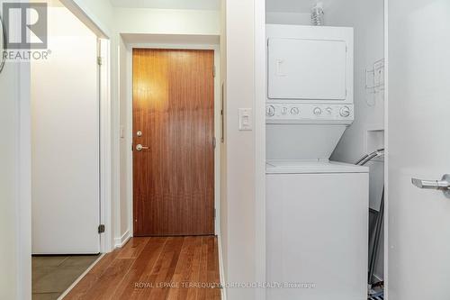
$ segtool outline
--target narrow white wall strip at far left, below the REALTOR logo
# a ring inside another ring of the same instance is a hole
[[[1,4],[2,2],[0,2]],[[6,63],[0,73],[0,298],[15,299],[18,259],[18,66]]]

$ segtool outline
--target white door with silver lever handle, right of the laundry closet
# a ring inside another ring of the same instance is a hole
[[[450,1],[388,1],[388,296],[449,299],[450,199],[411,177],[450,173]]]

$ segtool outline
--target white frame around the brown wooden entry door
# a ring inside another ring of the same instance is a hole
[[[166,49],[166,50],[214,50],[214,136],[216,147],[214,149],[214,234],[220,236],[220,45],[219,44],[191,44],[191,43],[126,43],[127,48],[127,208],[128,208],[128,228],[130,237],[133,236],[133,93],[132,93],[132,50],[133,49]]]

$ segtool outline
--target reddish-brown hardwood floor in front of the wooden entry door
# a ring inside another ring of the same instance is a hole
[[[133,238],[106,254],[64,299],[220,300],[217,238]]]

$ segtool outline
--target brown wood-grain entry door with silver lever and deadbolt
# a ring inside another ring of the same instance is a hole
[[[214,233],[213,68],[213,50],[133,50],[135,236]]]

